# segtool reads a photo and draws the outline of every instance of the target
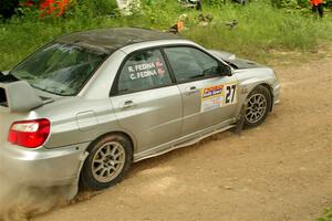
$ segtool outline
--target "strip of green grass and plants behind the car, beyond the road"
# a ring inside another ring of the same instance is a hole
[[[85,0],[87,2],[87,0]],[[207,48],[225,50],[261,62],[272,51],[314,50],[320,41],[332,40],[332,20],[330,14],[317,20],[310,13],[288,12],[271,8],[263,1],[247,7],[226,4],[222,7],[204,6],[204,14],[212,14],[212,23],[198,25],[195,10],[183,9],[176,1],[151,1],[143,3],[143,10],[131,17],[106,17],[97,9],[76,8],[66,18],[39,19],[33,13],[24,18],[14,18],[0,23],[0,70],[8,70],[24,56],[33,52],[54,36],[73,31],[110,28],[142,27],[167,30],[175,24],[179,14],[188,14],[181,34]],[[332,17],[332,15],[331,15]],[[227,22],[237,20],[230,29]]]

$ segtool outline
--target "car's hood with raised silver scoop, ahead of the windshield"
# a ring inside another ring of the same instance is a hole
[[[209,50],[215,56],[224,60],[226,63],[231,65],[234,69],[241,70],[241,69],[255,69],[255,67],[262,67],[262,65],[248,61],[245,59],[239,59],[235,54],[222,52],[222,51],[216,51],[216,50]]]

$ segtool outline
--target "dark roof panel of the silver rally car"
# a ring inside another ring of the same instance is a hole
[[[74,32],[59,36],[56,41],[94,48],[103,50],[107,53],[113,53],[117,49],[134,43],[173,39],[180,38],[176,34],[155,30],[138,28],[113,28]]]

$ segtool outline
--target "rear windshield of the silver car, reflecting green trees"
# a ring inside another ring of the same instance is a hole
[[[38,90],[52,94],[75,95],[107,54],[79,45],[51,43],[38,50],[10,74]]]

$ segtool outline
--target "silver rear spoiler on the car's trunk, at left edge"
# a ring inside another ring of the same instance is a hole
[[[0,83],[0,112],[29,112],[43,105],[34,88],[25,81]]]

